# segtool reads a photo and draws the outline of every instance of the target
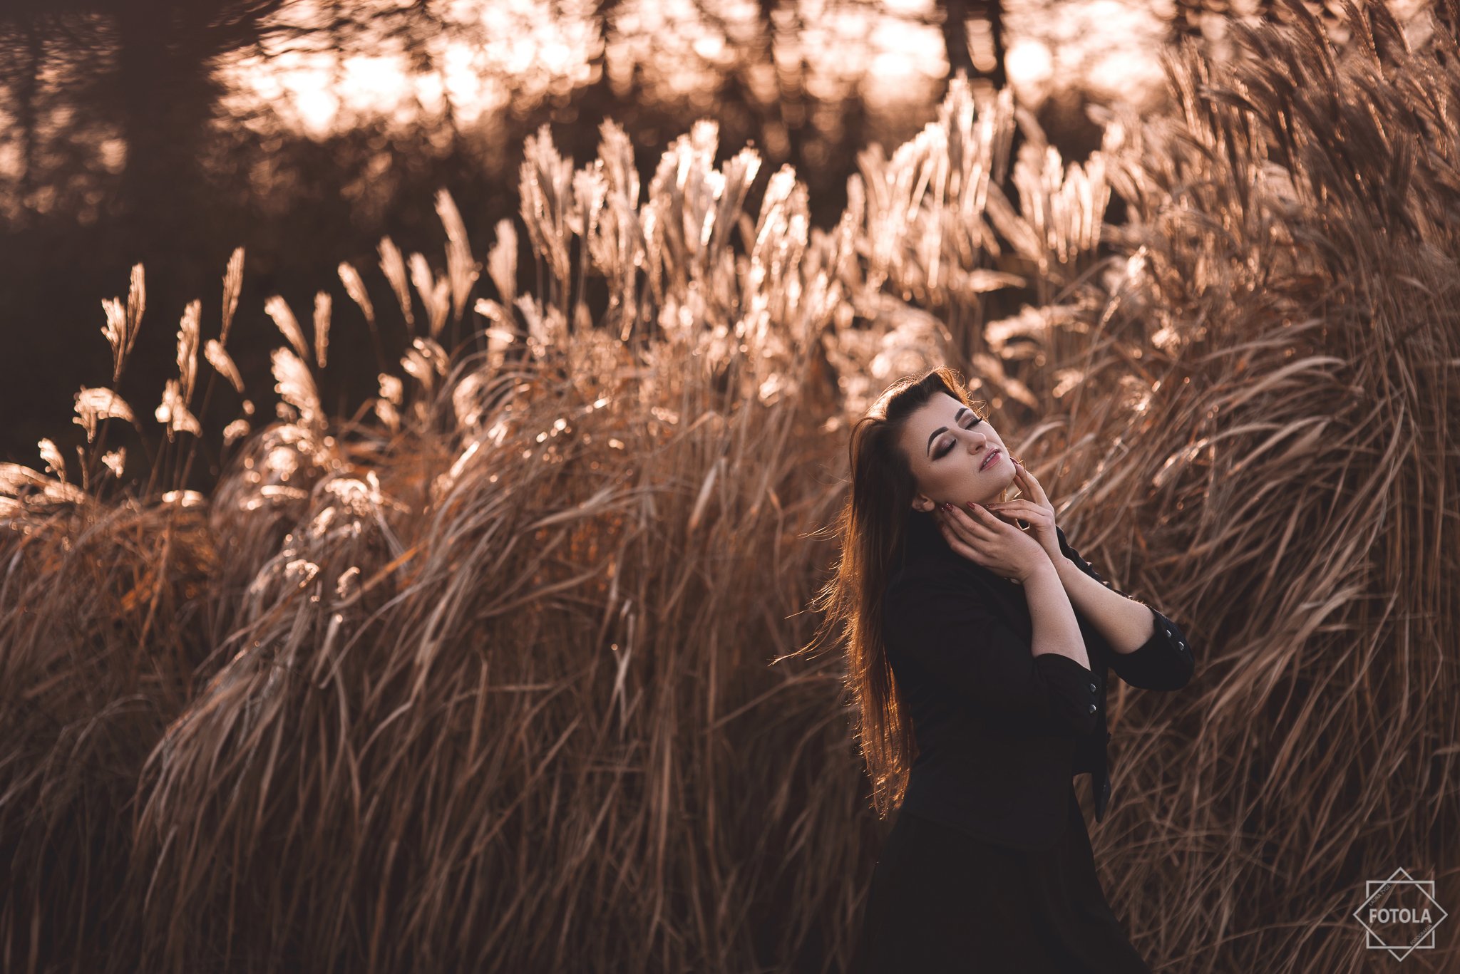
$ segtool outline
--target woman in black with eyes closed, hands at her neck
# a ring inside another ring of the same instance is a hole
[[[822,634],[848,644],[876,810],[899,809],[853,970],[1149,973],[1073,775],[1092,775],[1099,821],[1107,670],[1178,689],[1186,637],[1070,548],[946,368],[899,380],[854,428],[840,532]]]

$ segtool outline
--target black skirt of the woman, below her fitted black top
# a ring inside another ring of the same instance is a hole
[[[1069,802],[1069,828],[1041,851],[899,812],[851,974],[1150,974],[1105,901],[1073,783]]]

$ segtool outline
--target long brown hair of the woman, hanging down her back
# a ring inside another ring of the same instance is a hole
[[[917,492],[907,453],[898,445],[907,418],[933,396],[948,393],[969,409],[962,375],[939,367],[892,383],[851,428],[851,489],[837,518],[841,555],[835,575],[813,607],[825,612],[816,637],[802,651],[845,641],[844,685],[853,702],[853,730],[872,777],[877,818],[902,803],[908,771],[917,756],[912,726],[905,718],[882,643],[882,593]]]

